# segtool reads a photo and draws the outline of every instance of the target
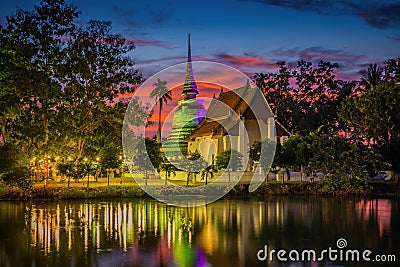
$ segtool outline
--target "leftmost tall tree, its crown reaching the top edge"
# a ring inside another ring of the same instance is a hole
[[[2,52],[13,55],[5,59],[11,60],[10,65],[14,64],[22,72],[8,72],[10,84],[4,84],[1,79],[0,87],[1,90],[7,87],[14,89],[19,98],[15,102],[19,107],[14,108],[23,113],[20,118],[24,120],[12,124],[17,128],[16,139],[25,149],[38,154],[47,154],[53,144],[50,139],[57,136],[53,122],[62,93],[62,85],[58,80],[65,49],[62,39],[75,28],[74,19],[78,14],[77,8],[66,4],[64,0],[43,0],[33,11],[19,9],[16,14],[7,17],[1,31],[1,39],[11,44]],[[15,116],[15,112],[10,113],[10,109],[7,111],[6,115],[2,115]],[[4,121],[3,117],[3,135]]]

